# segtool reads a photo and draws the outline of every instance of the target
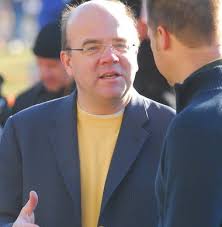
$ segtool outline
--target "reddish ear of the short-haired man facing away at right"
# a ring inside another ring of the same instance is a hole
[[[158,49],[166,50],[170,47],[170,34],[163,26],[157,27],[157,42]]]

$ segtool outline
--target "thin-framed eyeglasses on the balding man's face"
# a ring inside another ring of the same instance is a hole
[[[82,51],[84,55],[91,56],[97,54],[103,54],[107,47],[111,48],[116,54],[124,54],[129,51],[131,47],[135,47],[135,44],[127,45],[126,43],[114,43],[106,45],[103,43],[88,43],[83,48],[66,48],[67,51]]]

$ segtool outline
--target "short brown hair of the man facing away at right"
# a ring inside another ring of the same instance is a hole
[[[212,43],[218,33],[221,0],[147,0],[148,25],[164,26],[185,45]]]

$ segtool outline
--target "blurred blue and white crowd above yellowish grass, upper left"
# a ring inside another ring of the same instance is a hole
[[[39,29],[57,19],[68,0],[1,0],[0,47],[30,47]]]

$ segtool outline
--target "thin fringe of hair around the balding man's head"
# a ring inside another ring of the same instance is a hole
[[[124,6],[124,10],[126,15],[132,20],[132,22],[135,25],[136,28],[136,17],[133,13],[133,10],[125,5],[124,3],[122,3],[120,0],[106,0],[106,1],[112,1],[115,2],[117,4],[119,4],[120,6]],[[81,0],[81,3],[87,2],[86,0]],[[80,5],[78,4],[78,5]],[[78,6],[77,4],[74,5],[67,5],[66,8],[63,10],[62,13],[62,18],[61,18],[61,45],[62,45],[62,50],[65,50],[68,47],[68,39],[67,39],[67,23],[68,20],[70,18],[70,15],[72,14],[73,10],[75,10],[75,8]]]

